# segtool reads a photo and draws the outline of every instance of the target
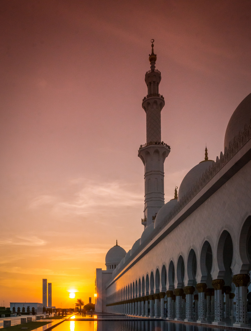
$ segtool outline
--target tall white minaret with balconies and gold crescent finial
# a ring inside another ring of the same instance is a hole
[[[161,141],[160,112],[165,105],[164,97],[159,94],[161,75],[155,69],[156,55],[149,54],[151,70],[146,72],[147,96],[142,107],[146,112],[146,144],[141,145],[138,156],[145,166],[145,209],[142,224],[148,226],[164,205],[164,162],[170,153],[170,146]]]

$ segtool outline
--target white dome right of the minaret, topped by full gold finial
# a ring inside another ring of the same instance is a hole
[[[200,179],[202,174],[208,170],[210,166],[213,166],[214,161],[208,160],[200,162],[197,166],[194,166],[186,176],[183,178],[179,188],[178,201],[180,201],[187,193],[193,188],[194,184]]]

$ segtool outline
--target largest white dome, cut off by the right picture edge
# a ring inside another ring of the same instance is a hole
[[[233,138],[239,135],[239,132],[244,131],[245,124],[248,126],[251,119],[251,93],[241,101],[239,106],[233,112],[227,126],[224,139],[224,148],[229,148],[229,144],[233,142]]]

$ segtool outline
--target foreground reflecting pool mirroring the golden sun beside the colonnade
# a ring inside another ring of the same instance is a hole
[[[53,331],[214,331],[216,329],[160,320],[65,321]],[[218,329],[219,330],[219,329]]]

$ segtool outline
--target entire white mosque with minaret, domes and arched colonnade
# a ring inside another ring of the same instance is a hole
[[[116,243],[106,254],[106,270],[96,269],[96,311],[248,326],[251,93],[229,120],[224,154],[208,160],[206,149],[165,204],[170,146],[161,141],[165,101],[153,43],[149,61],[142,102],[146,144],[138,151],[145,167],[144,231],[128,252]]]

